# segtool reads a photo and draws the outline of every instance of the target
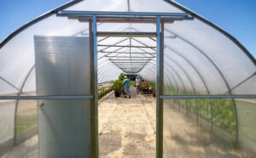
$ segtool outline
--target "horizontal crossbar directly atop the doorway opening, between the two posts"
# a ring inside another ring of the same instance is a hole
[[[97,37],[156,37],[155,32],[97,31]]]

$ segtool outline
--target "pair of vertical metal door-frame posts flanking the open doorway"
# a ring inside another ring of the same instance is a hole
[[[129,13],[129,12],[127,12]],[[91,76],[93,76],[91,86],[91,93],[94,95],[94,99],[91,101],[91,156],[99,157],[99,145],[98,145],[98,85],[97,85],[97,16],[93,14],[92,21],[90,21],[90,38],[93,50],[90,51],[93,59],[91,61],[93,67],[91,67]],[[156,16],[156,157],[163,157],[163,99],[160,99],[160,95],[163,95],[163,29],[164,20],[161,20],[160,16]],[[127,21],[128,22],[128,21]]]

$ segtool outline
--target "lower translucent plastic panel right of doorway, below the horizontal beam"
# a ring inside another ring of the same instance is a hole
[[[242,150],[237,147],[236,118],[230,99],[165,99],[163,111],[164,157],[253,155],[254,144]],[[247,123],[253,121],[253,117],[244,119]],[[247,123],[241,127],[251,130],[249,135],[254,137],[252,124]]]

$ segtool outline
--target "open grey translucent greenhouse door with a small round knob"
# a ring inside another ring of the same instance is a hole
[[[34,37],[40,157],[91,157],[90,38]],[[82,99],[81,99],[82,98]]]

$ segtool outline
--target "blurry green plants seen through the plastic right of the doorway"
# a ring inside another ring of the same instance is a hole
[[[195,95],[195,93],[176,90],[171,87],[164,88],[165,93],[177,95]],[[196,115],[207,120],[213,121],[217,127],[224,129],[232,136],[236,136],[236,116],[234,105],[231,99],[172,99],[174,103],[189,110]]]

